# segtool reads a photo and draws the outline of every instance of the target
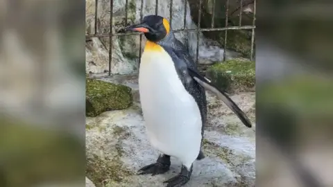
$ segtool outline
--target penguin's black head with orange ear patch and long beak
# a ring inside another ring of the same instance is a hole
[[[125,30],[142,32],[149,41],[158,42],[169,34],[170,24],[164,17],[148,15],[144,17],[142,23],[128,26]]]

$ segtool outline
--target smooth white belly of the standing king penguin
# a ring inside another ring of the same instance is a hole
[[[142,54],[139,93],[151,145],[190,166],[200,151],[200,111],[167,53]]]

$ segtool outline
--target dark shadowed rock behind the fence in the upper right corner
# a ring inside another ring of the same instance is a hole
[[[215,1],[214,6],[214,27],[225,27],[225,0]],[[201,4],[201,28],[212,28],[212,7],[213,0],[204,0]],[[197,0],[189,0],[191,16],[198,24],[199,5]],[[229,1],[228,26],[239,26],[240,1]],[[241,26],[253,25],[253,0],[244,0],[242,7]],[[210,31],[203,33],[205,37],[219,42],[219,46],[224,44],[225,32]],[[250,57],[251,51],[251,30],[228,30],[227,47],[232,51],[242,53],[244,57]]]

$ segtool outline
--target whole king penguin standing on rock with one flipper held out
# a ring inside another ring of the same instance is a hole
[[[123,30],[144,33],[147,39],[139,66],[139,96],[148,141],[160,152],[157,161],[141,168],[139,175],[167,172],[172,156],[182,167],[164,184],[183,186],[191,177],[194,161],[205,158],[201,149],[207,121],[205,89],[221,98],[247,127],[251,123],[227,94],[198,73],[167,19],[147,15],[142,23]]]

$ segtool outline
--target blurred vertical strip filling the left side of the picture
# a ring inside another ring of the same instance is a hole
[[[0,9],[0,186],[83,186],[85,2]]]

